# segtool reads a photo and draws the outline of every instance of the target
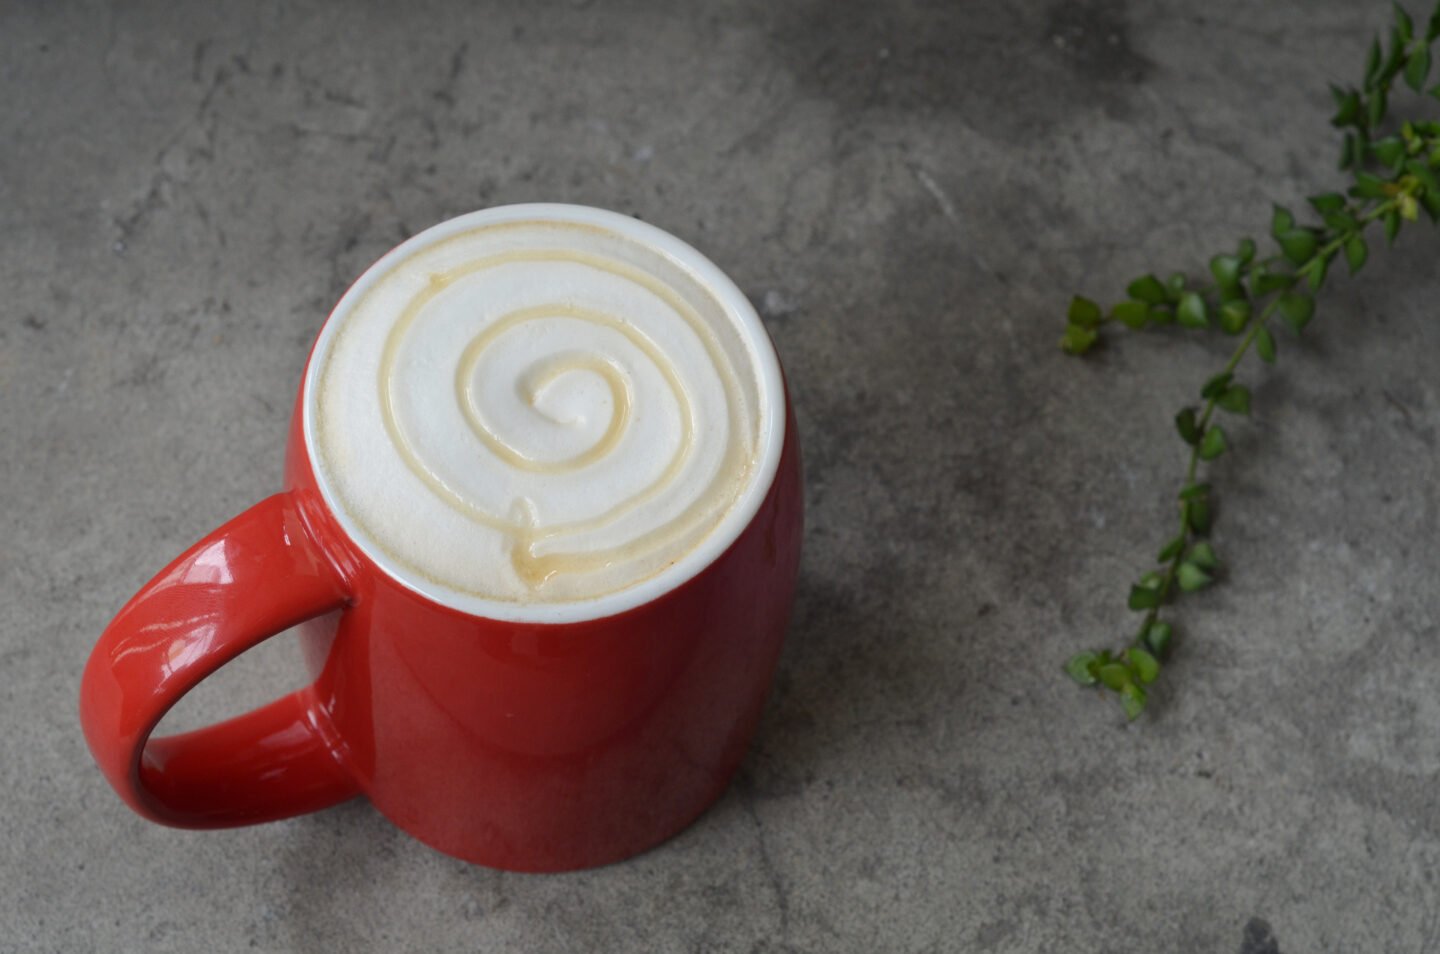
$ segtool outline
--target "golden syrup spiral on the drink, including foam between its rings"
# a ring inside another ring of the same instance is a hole
[[[467,291],[507,281],[521,291],[494,295],[508,303],[497,313]],[[379,412],[405,470],[507,540],[531,597],[569,579],[562,591],[580,598],[664,569],[724,514],[756,441],[740,372],[694,306],[642,268],[576,249],[429,272],[384,339]],[[583,582],[615,566],[639,575]]]

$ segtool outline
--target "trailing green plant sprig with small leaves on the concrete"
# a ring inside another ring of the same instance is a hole
[[[1148,686],[1161,674],[1174,638],[1174,625],[1161,620],[1162,608],[1179,592],[1210,587],[1220,571],[1220,558],[1208,540],[1212,523],[1211,486],[1200,483],[1200,467],[1228,450],[1224,427],[1215,412],[1250,414],[1250,389],[1236,380],[1244,357],[1253,350],[1273,365],[1277,355],[1270,320],[1279,314],[1299,334],[1315,316],[1315,295],[1325,287],[1331,264],[1344,257],[1354,275],[1369,259],[1365,232],[1377,222],[1388,244],[1401,228],[1424,212],[1440,222],[1440,121],[1408,118],[1395,121],[1390,97],[1403,81],[1426,94],[1431,46],[1440,39],[1440,3],[1423,33],[1410,14],[1395,4],[1390,43],[1377,37],[1365,59],[1359,86],[1331,86],[1335,115],[1331,124],[1345,130],[1339,167],[1351,173],[1344,193],[1312,196],[1318,225],[1302,225],[1295,215],[1274,206],[1270,236],[1276,254],[1257,258],[1251,239],[1241,239],[1234,252],[1210,259],[1207,281],[1175,272],[1161,281],[1142,275],[1126,287],[1126,298],[1102,310],[1076,295],[1070,303],[1060,347],[1084,355],[1102,339],[1107,324],[1129,329],[1178,324],[1211,329],[1215,324],[1238,337],[1224,367],[1208,378],[1200,404],[1175,415],[1175,428],[1189,447],[1185,481],[1176,496],[1179,526],[1155,558],[1156,566],[1130,587],[1129,608],[1142,612],[1135,636],[1119,651],[1089,650],[1066,663],[1066,672],[1083,686],[1099,686],[1119,696],[1126,716],[1138,718],[1148,702]],[[1428,89],[1440,99],[1440,85]]]

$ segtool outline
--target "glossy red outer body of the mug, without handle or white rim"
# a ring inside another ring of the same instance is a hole
[[[323,499],[301,414],[287,484],[353,602],[302,628],[336,755],[376,808],[446,855],[511,870],[615,862],[724,790],[789,620],[802,486],[793,414],[752,522],[713,563],[621,614],[488,620],[397,582]]]

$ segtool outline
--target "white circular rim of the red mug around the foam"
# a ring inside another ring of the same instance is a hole
[[[599,597],[559,602],[520,602],[478,597],[426,579],[392,558],[369,539],[364,527],[340,506],[338,494],[320,465],[314,437],[317,369],[324,363],[330,344],[354,306],[399,262],[431,245],[477,228],[508,222],[554,222],[602,228],[645,245],[711,293],[740,331],[753,362],[756,396],[760,406],[757,457],[750,480],[714,529],[693,549],[660,572]],[[678,589],[714,563],[755,520],[765,503],[780,464],[786,440],[788,395],[779,356],[755,306],[734,281],[698,249],[664,229],[619,212],[569,203],[520,203],[469,212],[418,232],[382,255],[346,290],[315,337],[301,385],[301,431],[305,454],[325,509],[356,548],[400,587],[442,607],[488,620],[520,624],[567,624],[602,620],[654,602]]]

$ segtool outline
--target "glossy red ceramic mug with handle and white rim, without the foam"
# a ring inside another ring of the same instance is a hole
[[[583,223],[658,249],[749,334],[762,440],[724,520],[658,576],[539,608],[465,602],[408,574],[317,467],[317,355],[387,269],[467,231]],[[628,216],[507,206],[405,242],[336,306],[307,362],[285,489],[192,546],[101,636],[81,723],[141,816],[253,824],[366,795],[420,842],[492,868],[566,870],[665,840],[724,790],[780,651],[801,550],[795,418],[753,307],[688,245]],[[312,682],[261,709],[151,738],[228,660],[300,627]]]

